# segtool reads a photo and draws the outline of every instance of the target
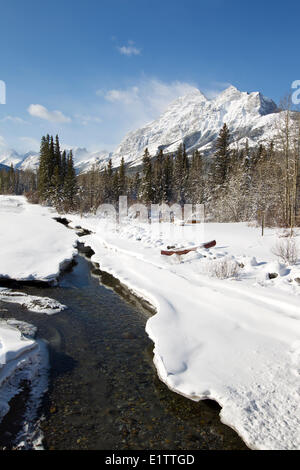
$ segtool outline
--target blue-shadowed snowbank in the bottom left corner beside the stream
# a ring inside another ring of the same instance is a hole
[[[33,339],[35,327],[17,320],[0,320],[0,422],[20,384],[30,386],[23,428],[15,436],[17,448],[41,448],[37,422],[41,399],[48,385],[48,353],[44,343]]]

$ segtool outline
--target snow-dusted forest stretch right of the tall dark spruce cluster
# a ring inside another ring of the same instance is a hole
[[[263,218],[269,225],[295,225],[299,119],[289,111],[278,119],[276,138],[256,147],[247,139],[238,147],[224,124],[210,157],[198,150],[188,156],[184,144],[174,154],[159,150],[151,156],[145,149],[135,174],[126,174],[123,159],[118,169],[109,160],[104,170],[94,167],[79,175],[80,210],[96,210],[127,195],[129,202],[147,205],[204,204],[206,217],[219,222]]]

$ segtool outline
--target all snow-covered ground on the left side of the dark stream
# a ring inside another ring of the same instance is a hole
[[[23,197],[0,196],[0,278],[56,281],[77,252],[77,236],[53,216],[49,209],[28,204]],[[0,288],[0,301],[48,315],[65,308],[53,299],[5,288]],[[34,420],[47,388],[48,360],[45,345],[34,339],[34,333],[26,323],[0,319],[0,421],[9,410],[9,401],[20,392],[20,384],[30,383],[24,429],[17,437],[19,448],[38,448],[41,441]]]

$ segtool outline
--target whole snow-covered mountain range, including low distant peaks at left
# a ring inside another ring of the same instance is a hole
[[[145,148],[155,156],[162,148],[173,152],[184,143],[188,152],[199,149],[204,154],[213,150],[214,143],[224,123],[230,129],[234,142],[249,146],[268,142],[276,134],[279,109],[274,101],[259,92],[241,92],[230,86],[214,99],[208,99],[197,88],[171,103],[155,121],[130,132],[113,153],[89,152],[86,148],[73,148],[78,173],[86,172],[93,165],[103,168],[109,158],[113,166],[120,165],[122,157],[130,167],[142,162]],[[68,150],[68,149],[67,149]],[[0,153],[0,163],[20,169],[36,169],[39,155],[28,152],[19,155],[10,150]]]

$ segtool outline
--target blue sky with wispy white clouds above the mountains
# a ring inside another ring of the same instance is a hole
[[[300,79],[294,0],[0,0],[0,15],[0,151],[47,132],[113,150],[192,86],[279,102]]]

